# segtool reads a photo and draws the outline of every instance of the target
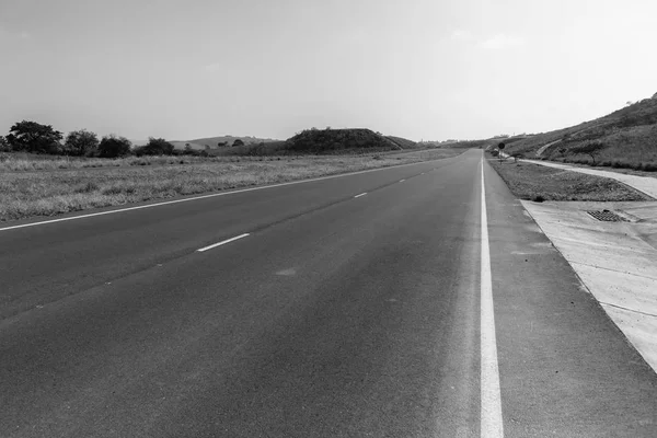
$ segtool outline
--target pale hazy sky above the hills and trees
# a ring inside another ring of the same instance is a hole
[[[655,0],[0,0],[0,134],[538,132],[657,92]]]

